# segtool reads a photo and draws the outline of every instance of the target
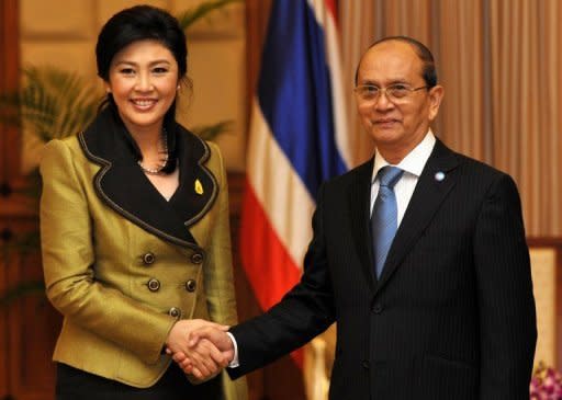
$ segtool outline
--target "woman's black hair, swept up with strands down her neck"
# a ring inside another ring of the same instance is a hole
[[[178,62],[178,77],[184,79],[188,72],[188,46],[186,33],[172,15],[167,11],[151,5],[135,5],[114,14],[101,28],[95,45],[98,76],[109,82],[110,67],[113,57],[130,44],[138,41],[153,39],[168,48]],[[108,93],[100,108],[108,106],[116,112],[113,95]],[[171,173],[176,169],[176,100],[164,117],[164,127],[168,130],[168,161],[161,172]],[[171,130],[171,132],[170,132]],[[132,138],[130,138],[132,139]],[[134,151],[142,160],[143,156],[132,142]]]

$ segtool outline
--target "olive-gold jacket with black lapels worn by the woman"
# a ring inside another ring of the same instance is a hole
[[[228,194],[216,145],[175,124],[180,186],[166,201],[134,141],[103,112],[41,162],[46,290],[63,313],[54,359],[134,387],[154,385],[177,319],[236,323]],[[225,399],[246,400],[223,374]]]

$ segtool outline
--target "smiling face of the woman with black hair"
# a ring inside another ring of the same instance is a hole
[[[111,61],[105,89],[132,135],[160,133],[179,88],[178,62],[157,41],[133,42]]]

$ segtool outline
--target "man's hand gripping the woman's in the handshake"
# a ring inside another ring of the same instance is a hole
[[[199,379],[206,380],[212,377],[209,375],[212,373],[212,368],[209,367],[209,361],[203,359],[201,355],[207,347],[215,348],[221,353],[222,359],[226,361],[223,367],[234,358],[234,344],[226,334],[226,329],[217,324],[206,324],[191,331],[189,352],[175,352],[172,358],[186,374],[193,374]]]

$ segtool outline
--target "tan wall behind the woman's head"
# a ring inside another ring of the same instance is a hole
[[[21,65],[55,66],[98,80],[94,46],[103,23],[116,11],[148,3],[178,14],[202,0],[22,0]],[[233,132],[217,138],[229,170],[245,164],[246,32],[244,2],[215,11],[188,32],[188,75],[193,94],[179,107],[187,127],[232,119]],[[101,87],[101,83],[100,83]],[[37,162],[27,137],[23,169]]]

